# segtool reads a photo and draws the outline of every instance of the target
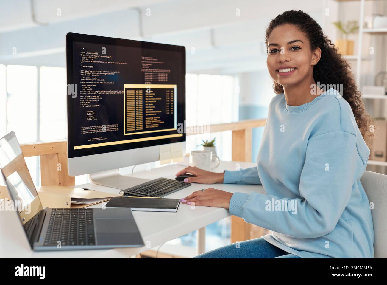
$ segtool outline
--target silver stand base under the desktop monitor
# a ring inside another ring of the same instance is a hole
[[[122,175],[119,173],[118,169],[91,173],[89,174],[89,179],[94,184],[117,188],[120,190],[125,190],[127,188],[134,187],[141,183],[150,181],[149,179]]]

